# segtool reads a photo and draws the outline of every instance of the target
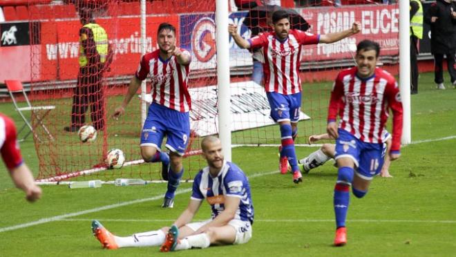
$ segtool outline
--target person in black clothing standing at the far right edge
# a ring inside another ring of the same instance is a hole
[[[438,89],[444,86],[444,55],[451,83],[456,86],[456,2],[437,0],[433,3],[424,21],[430,24],[430,52],[434,55],[434,82]]]

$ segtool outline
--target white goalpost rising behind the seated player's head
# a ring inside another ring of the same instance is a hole
[[[227,1],[216,0],[218,132],[225,160],[231,162],[228,15]]]

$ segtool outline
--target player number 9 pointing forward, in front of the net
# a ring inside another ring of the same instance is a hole
[[[162,207],[172,208],[174,193],[184,173],[182,156],[189,142],[191,99],[188,91],[191,55],[175,46],[175,28],[169,23],[158,27],[158,48],[144,55],[131,79],[129,91],[113,117],[124,114],[127,104],[150,75],[152,104],[141,133],[141,155],[145,162],[162,162],[162,177],[168,180]],[[169,155],[161,151],[162,140],[167,135]]]

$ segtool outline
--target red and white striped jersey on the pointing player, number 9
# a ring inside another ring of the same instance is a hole
[[[189,51],[180,48],[182,55],[191,56]],[[140,80],[151,75],[152,101],[175,111],[185,113],[191,110],[188,91],[190,64],[179,64],[175,56],[167,60],[160,58],[160,49],[144,55],[137,69],[136,77]]]

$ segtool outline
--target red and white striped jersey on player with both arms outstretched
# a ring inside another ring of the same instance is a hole
[[[291,95],[301,92],[299,66],[301,46],[319,44],[320,35],[301,30],[289,30],[287,39],[281,41],[275,32],[261,33],[248,39],[250,48],[263,48],[266,92]]]

